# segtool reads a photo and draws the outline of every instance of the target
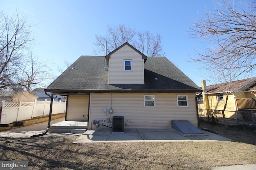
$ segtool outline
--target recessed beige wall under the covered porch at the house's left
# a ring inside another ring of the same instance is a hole
[[[66,120],[88,121],[89,95],[69,95]]]

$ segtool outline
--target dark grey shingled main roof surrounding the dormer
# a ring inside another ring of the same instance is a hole
[[[108,84],[104,62],[104,56],[81,56],[45,91],[52,94],[202,91],[166,57],[148,57],[144,64],[145,84]]]

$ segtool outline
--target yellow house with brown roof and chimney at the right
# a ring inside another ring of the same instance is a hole
[[[224,90],[227,89],[227,90]],[[226,87],[225,83],[206,86],[202,80],[202,96],[198,98],[198,113],[223,117],[222,110],[228,95],[227,107],[224,112],[226,118],[235,118],[236,111],[256,110],[256,78],[233,81]]]

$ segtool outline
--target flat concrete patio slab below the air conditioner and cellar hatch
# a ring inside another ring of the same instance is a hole
[[[120,134],[112,134],[112,130],[88,130],[73,143],[232,141],[208,131],[203,131],[203,133],[202,135],[182,135],[171,128],[126,129]]]

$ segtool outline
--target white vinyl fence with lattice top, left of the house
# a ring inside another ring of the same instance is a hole
[[[65,113],[66,102],[52,103],[52,114]],[[20,102],[20,103],[7,103],[2,101],[1,105],[1,119],[0,124],[9,124],[14,121],[22,121],[32,119],[33,117],[49,115],[50,102],[37,101],[35,102]]]

